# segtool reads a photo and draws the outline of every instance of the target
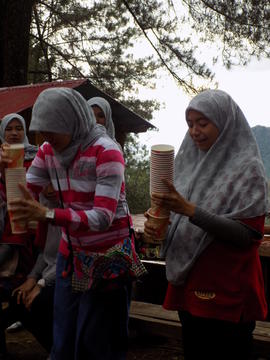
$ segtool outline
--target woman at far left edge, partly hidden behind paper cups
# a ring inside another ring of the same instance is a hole
[[[38,147],[31,145],[26,135],[24,118],[16,113],[3,117],[0,123],[0,140],[2,147],[6,144],[24,144],[24,167],[28,168],[35,157]],[[0,277],[5,297],[11,296],[14,287],[21,284],[34,263],[33,240],[34,234],[29,231],[27,234],[15,235],[11,233],[10,220],[6,211],[5,199],[5,177],[4,164],[0,160],[0,190],[2,193],[2,204],[0,208]],[[3,331],[3,329],[1,329]],[[4,332],[0,352],[4,353],[5,341]]]

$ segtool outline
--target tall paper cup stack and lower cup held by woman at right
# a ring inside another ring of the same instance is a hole
[[[162,179],[173,182],[174,178],[174,147],[159,144],[151,147],[150,157],[150,194],[167,193],[168,187]],[[159,244],[165,237],[169,224],[170,211],[155,205],[151,201],[151,208],[147,210],[149,224],[156,230],[156,237],[150,238],[144,234],[145,242]]]

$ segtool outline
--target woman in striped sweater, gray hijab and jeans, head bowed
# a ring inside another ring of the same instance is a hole
[[[72,89],[43,91],[30,130],[45,142],[28,187],[38,194],[51,182],[63,200],[63,208],[51,211],[22,186],[25,200],[11,203],[15,220],[62,226],[51,359],[125,359],[130,280],[143,269],[130,235],[122,153]],[[100,256],[111,248],[113,256]],[[87,290],[78,291],[85,282]]]

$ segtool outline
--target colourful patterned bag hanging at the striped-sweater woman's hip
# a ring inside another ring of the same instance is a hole
[[[130,238],[101,253],[74,251],[72,290],[101,290],[115,284],[107,280],[130,281],[146,273]]]

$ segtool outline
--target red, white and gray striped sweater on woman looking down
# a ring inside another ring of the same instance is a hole
[[[39,193],[60,181],[64,209],[55,210],[55,224],[62,226],[60,252],[68,254],[68,228],[74,248],[106,249],[129,234],[125,199],[124,159],[108,137],[99,138],[84,152],[78,150],[71,166],[64,169],[49,143],[44,143],[27,172],[28,187]]]

